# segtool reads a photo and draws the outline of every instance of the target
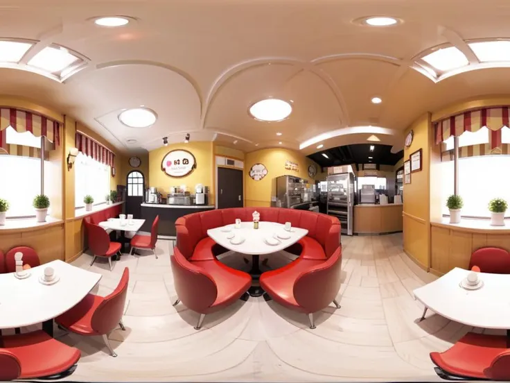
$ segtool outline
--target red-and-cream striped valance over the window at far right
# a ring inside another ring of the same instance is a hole
[[[469,110],[447,117],[435,123],[436,144],[440,144],[451,136],[459,137],[464,132],[476,132],[486,126],[491,130],[490,148],[498,148],[502,144],[501,129],[509,126],[509,115],[509,106],[499,106]]]

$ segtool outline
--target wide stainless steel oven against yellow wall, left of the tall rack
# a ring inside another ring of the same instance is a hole
[[[308,180],[294,176],[273,178],[271,206],[296,208],[310,204],[313,196],[312,185]]]

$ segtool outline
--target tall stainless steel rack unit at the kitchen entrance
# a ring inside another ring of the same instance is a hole
[[[326,213],[336,216],[342,232],[353,235],[354,174],[341,173],[328,176]]]

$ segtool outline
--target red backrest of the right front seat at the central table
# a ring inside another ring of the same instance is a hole
[[[340,291],[341,269],[342,247],[339,246],[322,264],[298,275],[293,289],[297,304],[308,314],[328,307]]]

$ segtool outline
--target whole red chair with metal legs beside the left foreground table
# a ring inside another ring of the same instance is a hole
[[[122,316],[129,280],[130,271],[126,267],[112,293],[105,297],[88,294],[78,305],[55,318],[55,322],[75,334],[87,337],[102,335],[112,357],[116,357],[116,353],[109,344],[108,334],[117,327],[117,324],[125,330]]]

